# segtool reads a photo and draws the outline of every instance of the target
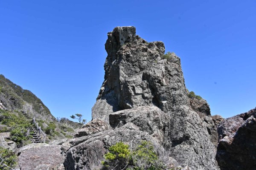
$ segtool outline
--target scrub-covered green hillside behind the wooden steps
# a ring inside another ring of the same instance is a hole
[[[74,129],[81,127],[79,123],[67,118],[57,120],[35,94],[0,75],[0,125],[7,126],[0,129],[0,132],[11,132],[12,139],[18,146],[23,146],[29,142],[27,137],[22,137],[26,136],[26,128],[29,126],[26,119],[32,118],[47,134],[48,142],[50,139],[72,138]]]

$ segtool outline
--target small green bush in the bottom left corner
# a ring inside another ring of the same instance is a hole
[[[14,169],[16,166],[17,156],[9,149],[0,147],[0,170]]]

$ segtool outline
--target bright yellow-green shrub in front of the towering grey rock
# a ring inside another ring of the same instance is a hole
[[[141,141],[134,151],[128,144],[117,142],[112,145],[102,161],[103,170],[163,170],[163,163],[159,160],[151,142]]]

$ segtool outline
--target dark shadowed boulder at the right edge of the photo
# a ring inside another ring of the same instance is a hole
[[[216,159],[221,170],[256,169],[256,109],[222,121]]]

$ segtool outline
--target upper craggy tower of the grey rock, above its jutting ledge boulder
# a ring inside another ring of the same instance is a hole
[[[105,81],[92,109],[93,119],[108,122],[108,114],[144,105],[162,111],[186,103],[187,97],[180,59],[161,60],[163,42],[146,42],[134,27],[116,27],[105,44]]]

